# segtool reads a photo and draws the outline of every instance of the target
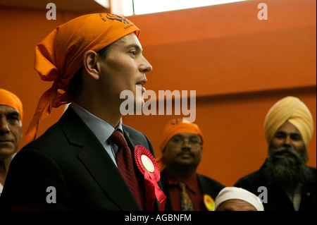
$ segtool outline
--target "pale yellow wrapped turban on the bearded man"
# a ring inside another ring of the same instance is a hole
[[[268,111],[264,121],[267,142],[271,142],[278,128],[286,121],[292,123],[299,130],[307,147],[313,135],[313,116],[304,102],[292,96],[280,99]]]

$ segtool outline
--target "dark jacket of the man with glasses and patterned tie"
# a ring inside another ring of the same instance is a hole
[[[216,199],[220,190],[225,188],[225,186],[223,186],[218,181],[215,181],[215,180],[213,180],[207,176],[201,175],[201,174],[197,174],[197,179],[198,179],[199,188],[201,190],[201,193],[203,195],[204,194],[210,195],[213,198],[213,200]],[[166,176],[165,170],[161,171],[161,183],[163,186],[163,192],[166,195],[166,210],[171,210],[172,206],[170,204],[170,193],[168,191],[168,178]],[[204,209],[206,210],[205,207],[204,207]]]

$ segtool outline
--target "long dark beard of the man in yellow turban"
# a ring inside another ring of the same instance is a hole
[[[306,166],[306,149],[296,152],[292,147],[270,147],[263,169],[263,180],[267,185],[280,186],[287,193],[312,178]]]

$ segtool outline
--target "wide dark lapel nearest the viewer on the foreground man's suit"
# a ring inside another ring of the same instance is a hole
[[[73,145],[82,147],[78,158],[106,195],[121,210],[139,210],[137,202],[104,147],[71,107],[61,118],[61,126]],[[128,202],[128,204],[127,204]]]

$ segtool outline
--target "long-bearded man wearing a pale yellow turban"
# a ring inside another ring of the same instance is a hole
[[[306,147],[313,135],[311,112],[297,97],[285,97],[268,111],[264,122],[268,158],[235,186],[267,195],[266,211],[311,211],[316,204],[316,168],[306,166]],[[266,187],[267,193],[259,192]]]

